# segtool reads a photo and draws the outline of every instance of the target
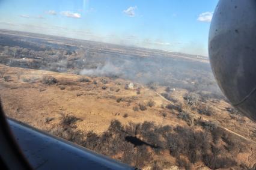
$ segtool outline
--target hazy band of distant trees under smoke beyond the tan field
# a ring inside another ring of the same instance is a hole
[[[93,46],[90,43],[86,45]],[[95,48],[97,49],[97,46]],[[117,73],[118,76],[146,83],[152,90],[156,90],[157,85],[164,85],[184,88],[190,92],[208,91],[204,97],[223,99],[212,76],[210,65],[203,62],[164,56],[123,56],[115,50],[106,53],[105,50],[94,50],[93,47],[67,46],[36,38],[11,37],[0,39],[0,55],[0,63],[14,67],[61,72],[72,70],[74,73],[79,73],[83,69],[96,69],[100,74],[106,73],[105,76],[110,76],[109,72],[113,72],[105,67],[110,64],[115,65],[116,70],[120,71]],[[31,60],[16,61],[21,58]],[[142,76],[136,76],[139,74]]]

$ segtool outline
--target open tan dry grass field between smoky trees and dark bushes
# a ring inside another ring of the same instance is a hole
[[[82,132],[93,131],[98,135],[108,130],[112,120],[118,120],[123,125],[128,125],[130,122],[149,121],[156,126],[183,126],[203,130],[200,126],[188,126],[186,121],[178,118],[177,111],[165,108],[172,102],[160,96],[164,87],[158,87],[154,91],[135,83],[133,90],[126,90],[124,87],[129,82],[123,79],[86,77],[90,82],[80,82],[79,79],[85,78],[85,76],[5,65],[0,65],[0,73],[4,73],[2,77],[10,76],[8,81],[5,81],[4,78],[0,80],[1,99],[7,116],[41,130],[49,131],[58,126],[63,114],[79,118],[79,121],[75,123],[76,129]],[[55,77],[58,82],[53,85],[44,84],[42,79],[46,76]],[[103,83],[102,79],[108,83]],[[94,81],[97,84],[94,84]],[[103,90],[102,87],[106,87],[106,90]],[[137,88],[140,88],[140,94],[136,93]],[[118,89],[120,91],[117,92]],[[187,91],[184,89],[176,89],[172,93],[172,97],[182,103],[184,102],[182,96],[185,93]],[[123,100],[118,103],[118,98]],[[151,108],[147,106],[149,100],[155,103]],[[147,106],[146,111],[133,111],[134,106],[139,106],[142,103]],[[177,103],[173,104],[177,105]],[[248,148],[248,151],[233,156],[234,159],[244,162],[246,165],[254,165],[256,160],[254,154],[256,151],[255,123],[245,117],[231,119],[225,109],[231,106],[224,100],[217,103],[207,100],[207,104],[213,106],[215,115],[198,114],[189,106],[184,107],[183,110],[194,115],[195,120],[201,118],[201,120],[215,121],[225,132],[233,134],[233,138]],[[166,114],[165,117],[163,117],[163,113]],[[127,114],[127,117],[124,117],[124,114]],[[47,118],[53,118],[53,120],[46,123]],[[156,155],[155,159],[164,155],[170,165],[175,165],[174,157],[169,156],[168,153]],[[198,162],[194,168],[201,167],[201,165]]]

